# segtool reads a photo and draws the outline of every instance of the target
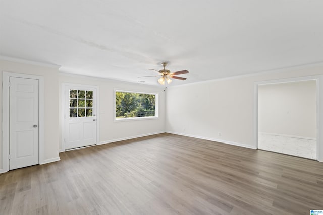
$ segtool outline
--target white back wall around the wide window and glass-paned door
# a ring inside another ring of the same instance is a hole
[[[165,132],[165,91],[164,88],[60,73],[59,84],[73,83],[98,86],[99,88],[99,144],[122,139]],[[115,122],[114,90],[158,93],[158,119]],[[61,89],[59,93],[61,97]],[[61,111],[61,110],[60,110]]]

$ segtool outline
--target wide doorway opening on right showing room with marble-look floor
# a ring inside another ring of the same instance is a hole
[[[317,160],[317,81],[258,85],[258,149]]]

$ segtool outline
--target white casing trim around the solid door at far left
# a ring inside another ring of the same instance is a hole
[[[10,91],[9,80],[10,77],[25,78],[25,79],[37,79],[39,81],[39,136],[38,136],[38,164],[44,163],[44,77],[23,73],[12,73],[3,71],[3,83],[2,83],[2,169],[0,173],[9,171],[9,145],[10,145]]]

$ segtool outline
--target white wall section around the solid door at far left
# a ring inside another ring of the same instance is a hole
[[[58,67],[46,67],[26,63],[0,60],[0,71],[32,74],[44,77],[44,161],[59,158],[59,100],[58,100]],[[0,76],[2,83],[2,74]],[[2,88],[0,89],[2,101]],[[2,112],[2,106],[0,107]],[[2,116],[0,116],[2,119]],[[1,120],[2,121],[2,120]],[[0,124],[2,127],[2,124]],[[0,167],[2,167],[2,136],[0,138]],[[0,170],[1,172],[1,170]]]

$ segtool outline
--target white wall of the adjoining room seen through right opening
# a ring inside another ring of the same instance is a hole
[[[316,138],[316,82],[259,85],[259,132]]]

